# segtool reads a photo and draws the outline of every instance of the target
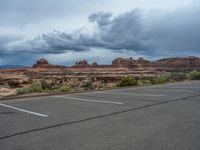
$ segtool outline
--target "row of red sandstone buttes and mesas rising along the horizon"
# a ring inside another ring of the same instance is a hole
[[[42,58],[37,60],[33,65],[33,68],[64,68],[65,66],[52,65]],[[177,68],[200,68],[200,58],[195,56],[190,57],[174,57],[174,58],[163,58],[157,61],[149,61],[144,58],[133,59],[130,58],[115,58],[110,65],[99,65],[97,62],[89,64],[87,60],[77,61],[71,68],[129,68],[129,69],[145,69],[148,67],[159,69],[177,69]],[[68,67],[70,68],[70,67]]]

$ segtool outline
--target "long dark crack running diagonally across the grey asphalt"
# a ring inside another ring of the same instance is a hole
[[[105,114],[105,115],[97,115],[97,116],[93,116],[93,117],[88,117],[88,118],[77,120],[77,121],[65,122],[65,123],[50,125],[50,126],[46,126],[46,127],[42,127],[42,128],[36,128],[36,129],[27,130],[27,131],[21,131],[21,132],[17,132],[17,133],[14,133],[14,134],[10,134],[10,135],[7,135],[7,136],[0,137],[0,140],[11,138],[11,137],[15,137],[15,136],[18,136],[18,135],[24,135],[24,134],[28,134],[28,133],[32,133],[32,132],[48,130],[48,129],[51,129],[51,128],[57,128],[57,127],[61,127],[61,126],[82,123],[82,122],[95,120],[95,119],[99,119],[99,118],[110,117],[110,116],[123,114],[123,113],[127,113],[127,112],[132,112],[132,111],[136,111],[136,110],[140,110],[140,109],[159,106],[159,105],[167,104],[167,103],[171,103],[171,102],[185,101],[187,99],[198,97],[198,96],[200,96],[200,95],[193,95],[193,96],[188,96],[188,97],[184,97],[184,98],[178,98],[178,99],[172,99],[172,100],[168,100],[168,101],[162,101],[162,102],[159,102],[159,103],[149,104],[149,105],[145,105],[145,106],[141,106],[141,107],[137,107],[137,108],[130,108],[130,109],[126,109],[126,110],[112,112],[112,113]]]

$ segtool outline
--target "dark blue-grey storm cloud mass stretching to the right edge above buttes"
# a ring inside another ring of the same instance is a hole
[[[134,10],[113,16],[97,12],[89,16],[97,30],[85,33],[82,30],[66,33],[54,31],[42,34],[33,40],[7,43],[7,52],[63,53],[91,48],[113,51],[132,50],[137,53],[193,54],[200,53],[199,7],[178,9],[168,13],[144,15]]]

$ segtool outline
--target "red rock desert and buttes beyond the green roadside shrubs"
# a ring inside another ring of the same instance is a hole
[[[77,61],[75,65],[67,67],[52,65],[42,58],[32,67],[18,69],[0,69],[0,97],[12,93],[13,88],[30,85],[33,80],[48,80],[48,82],[77,83],[81,85],[95,77],[95,82],[114,83],[124,76],[149,79],[168,72],[184,72],[200,70],[199,57],[163,58],[149,61],[143,58],[116,58],[110,65],[99,65],[97,62],[89,64],[87,60]]]

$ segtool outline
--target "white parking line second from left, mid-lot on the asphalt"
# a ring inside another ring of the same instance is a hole
[[[90,99],[75,98],[75,97],[67,97],[67,96],[53,96],[53,97],[57,97],[57,98],[65,98],[65,99],[71,99],[71,100],[77,100],[77,101],[94,102],[94,103],[108,103],[108,104],[123,105],[122,102],[101,101],[101,100],[90,100]]]

